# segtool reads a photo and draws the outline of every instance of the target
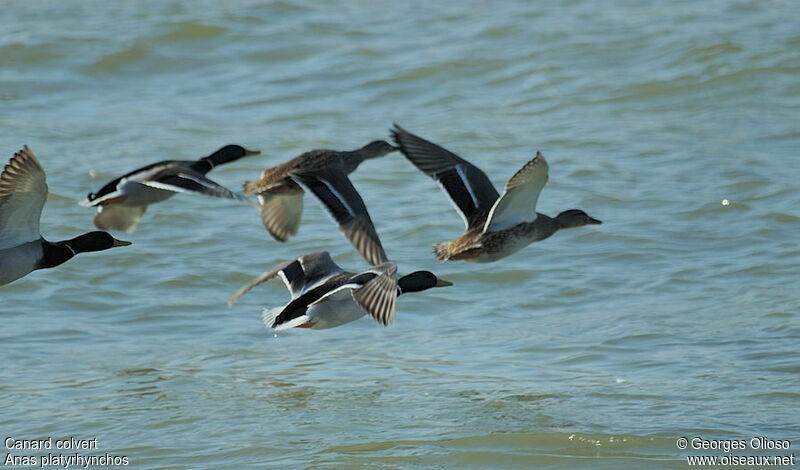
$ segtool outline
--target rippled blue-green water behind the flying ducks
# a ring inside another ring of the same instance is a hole
[[[539,210],[604,224],[438,263],[450,203],[399,154],[366,162],[390,257],[456,285],[404,296],[391,328],[275,337],[279,282],[228,296],[306,252],[363,262],[311,199],[278,244],[252,207],[176,196],[133,246],[2,288],[0,433],[97,438],[135,468],[685,468],[695,435],[796,452],[800,7],[640,3],[4,2],[0,151],[45,166],[49,239],[143,164],[261,149],[210,175],[238,187],[394,121],[497,186],[541,150]]]

